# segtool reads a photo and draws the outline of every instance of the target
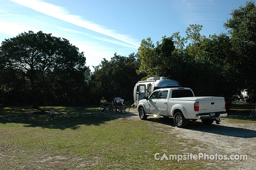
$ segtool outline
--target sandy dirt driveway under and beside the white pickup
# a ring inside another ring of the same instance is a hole
[[[140,120],[138,112],[133,109],[128,114],[116,112],[112,115],[104,112],[106,116],[116,119]],[[159,123],[158,126],[169,126],[172,130],[167,133],[177,134],[177,137],[189,139],[189,141],[199,141],[208,146],[207,149],[196,147],[199,153],[206,154],[247,154],[248,160],[229,160],[222,165],[231,165],[232,169],[255,170],[256,169],[256,124],[255,123],[236,123],[229,119],[221,119],[221,124],[215,122],[212,125],[204,125],[200,120],[190,121],[185,129],[177,128],[172,118],[154,118],[148,117],[147,121]],[[190,146],[191,147],[191,146]],[[217,167],[218,165],[216,165]]]

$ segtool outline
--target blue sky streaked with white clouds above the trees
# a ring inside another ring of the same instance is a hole
[[[84,51],[87,66],[113,54],[137,52],[142,39],[154,43],[201,24],[201,34],[226,32],[231,10],[246,0],[0,0],[0,41],[32,30],[66,38]]]

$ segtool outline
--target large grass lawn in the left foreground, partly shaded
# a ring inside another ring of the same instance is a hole
[[[161,157],[163,153],[198,153],[194,146],[199,145],[207,148],[176,137],[173,127],[115,119],[99,108],[55,109],[54,115],[31,108],[0,109],[1,170],[216,168],[205,160],[155,160],[155,153]]]

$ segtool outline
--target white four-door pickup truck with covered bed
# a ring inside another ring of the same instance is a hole
[[[226,117],[224,97],[195,97],[190,88],[158,89],[138,102],[139,117],[173,117],[174,124],[184,128],[189,120],[201,119],[204,124],[219,124]]]

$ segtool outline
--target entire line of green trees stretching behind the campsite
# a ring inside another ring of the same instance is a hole
[[[190,87],[196,96],[224,96],[256,91],[256,6],[250,1],[232,11],[227,33],[209,37],[191,24],[186,37],[163,36],[156,45],[143,39],[137,53],[116,53],[95,71],[85,66],[83,52],[68,40],[28,32],[0,46],[0,105],[85,105],[122,97],[133,101],[137,81],[158,75]],[[86,53],[86,51],[85,51]]]

